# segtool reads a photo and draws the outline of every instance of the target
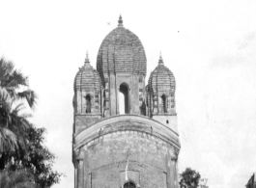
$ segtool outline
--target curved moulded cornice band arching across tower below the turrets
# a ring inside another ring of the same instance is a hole
[[[176,121],[174,121],[176,123]],[[122,115],[110,117],[87,127],[75,137],[74,148],[80,148],[103,135],[120,131],[136,131],[160,139],[177,150],[180,149],[179,135],[169,126],[143,116]]]

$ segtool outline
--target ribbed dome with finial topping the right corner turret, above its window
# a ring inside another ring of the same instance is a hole
[[[149,78],[150,91],[175,92],[175,77],[172,71],[163,65],[160,55],[159,62]]]

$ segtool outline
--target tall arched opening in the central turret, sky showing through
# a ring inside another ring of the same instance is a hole
[[[121,84],[119,89],[119,114],[128,114],[128,86]]]

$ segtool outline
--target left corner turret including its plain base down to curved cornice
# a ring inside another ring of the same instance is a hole
[[[101,119],[101,81],[96,69],[90,65],[88,53],[83,67],[74,78],[74,132]]]

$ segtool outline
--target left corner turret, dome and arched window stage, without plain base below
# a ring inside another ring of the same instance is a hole
[[[100,113],[100,75],[89,62],[86,55],[83,67],[74,78],[74,109],[78,114]]]

